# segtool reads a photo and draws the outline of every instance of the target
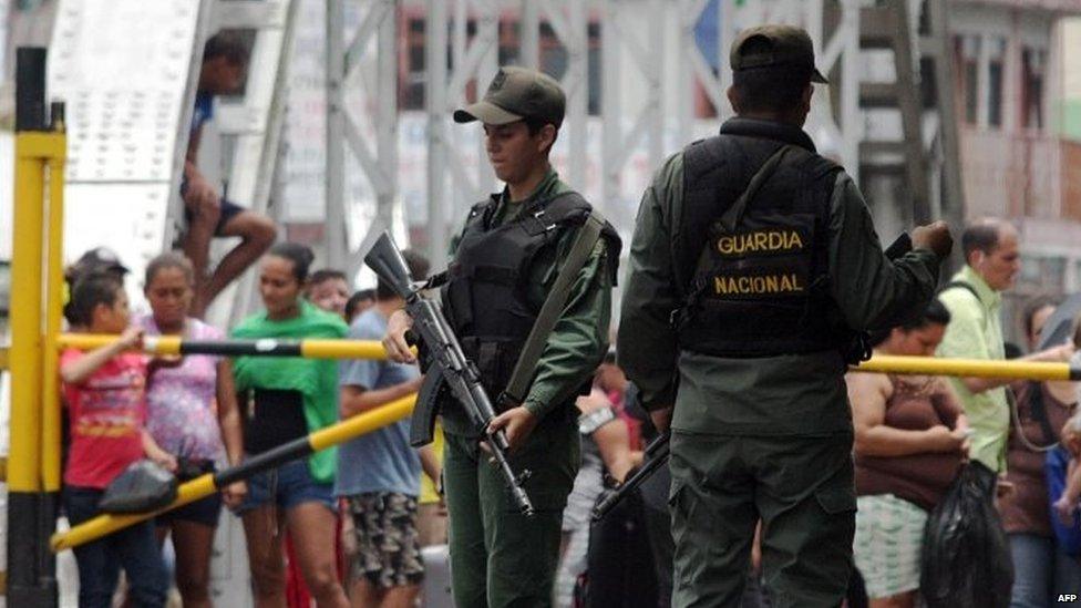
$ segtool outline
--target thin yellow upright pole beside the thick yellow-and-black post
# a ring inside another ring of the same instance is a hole
[[[56,114],[60,114],[58,120]],[[45,284],[45,338],[41,350],[41,480],[45,492],[60,492],[60,454],[62,429],[60,415],[60,361],[56,337],[60,336],[64,297],[64,164],[68,148],[62,122],[63,111],[53,104],[54,131],[49,135],[54,150],[49,157],[49,231]]]

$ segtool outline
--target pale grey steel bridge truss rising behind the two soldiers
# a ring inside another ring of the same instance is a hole
[[[567,117],[560,140],[566,140],[567,156],[563,175],[581,190],[587,190],[590,161],[597,158],[595,152],[590,154],[587,138],[595,122],[588,116],[587,104],[589,28],[599,29],[601,103],[596,122],[601,140],[600,178],[597,192],[586,194],[625,236],[629,234],[634,210],[609,207],[627,207],[624,174],[628,162],[645,147],[649,167],[657,168],[666,154],[696,136],[713,132],[731,114],[725,94],[731,84],[728,50],[735,33],[752,24],[792,23],[810,32],[819,68],[834,84],[816,91],[807,131],[816,140],[827,141],[823,152],[835,156],[858,179],[865,131],[861,109],[861,10],[871,2],[721,0],[720,9],[710,11],[708,0],[373,0],[361,3],[367,7],[362,24],[344,44],[341,14],[347,1],[350,0],[328,0],[331,76],[326,179],[331,265],[357,268],[361,254],[348,247],[349,241],[360,239],[347,238],[347,223],[342,220],[347,208],[342,154],[347,146],[377,193],[373,219],[378,221],[372,225],[390,225],[399,205],[397,19],[406,8],[415,11],[419,6],[425,17],[426,246],[436,268],[445,260],[447,241],[464,209],[496,186],[492,169],[483,162],[481,131],[452,128],[451,113],[482,94],[495,74],[501,19],[519,23],[519,64],[539,65],[542,24],[566,50],[562,84],[567,92]],[[717,58],[704,56],[696,41],[696,28],[709,18],[717,20]],[[367,70],[358,68],[362,63]],[[720,69],[714,70],[713,65]],[[342,84],[358,70],[363,74],[359,90],[364,101],[351,106],[369,112],[375,125],[374,147],[342,105]],[[918,74],[916,78],[918,82]],[[637,89],[641,92],[639,99],[624,94],[628,79],[645,83]],[[717,109],[717,117],[696,117],[697,91],[703,92]],[[831,93],[837,99],[831,99]],[[478,161],[471,164],[472,158]]]

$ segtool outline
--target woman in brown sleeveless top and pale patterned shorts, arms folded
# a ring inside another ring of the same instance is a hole
[[[875,352],[929,357],[949,311],[938,300],[919,318],[875,338]],[[910,608],[929,512],[968,453],[968,421],[938,377],[850,373],[858,511],[856,568],[872,608]]]

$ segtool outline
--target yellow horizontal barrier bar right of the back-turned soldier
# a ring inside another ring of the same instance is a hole
[[[1081,380],[1081,370],[1069,363],[988,361],[986,359],[939,359],[876,354],[854,368],[857,372],[955,375],[962,378],[1009,378],[1013,380]]]

